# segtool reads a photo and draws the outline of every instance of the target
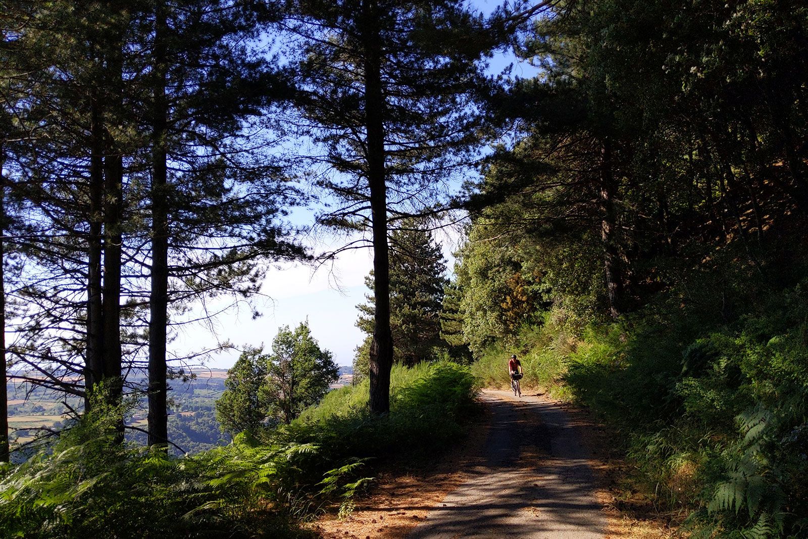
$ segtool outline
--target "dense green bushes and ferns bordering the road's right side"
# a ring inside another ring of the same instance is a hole
[[[799,537],[808,512],[808,294],[759,297],[736,322],[705,331],[685,310],[571,334],[552,312],[472,371],[590,406],[625,436],[646,492],[687,507],[696,537]],[[701,333],[701,336],[699,336]]]

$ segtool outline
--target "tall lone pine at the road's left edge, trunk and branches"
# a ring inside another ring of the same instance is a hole
[[[326,225],[368,230],[373,247],[370,406],[389,411],[390,220],[445,198],[478,141],[469,95],[486,40],[463,2],[292,2],[285,30],[299,44],[301,114],[325,149],[322,180],[343,205]]]

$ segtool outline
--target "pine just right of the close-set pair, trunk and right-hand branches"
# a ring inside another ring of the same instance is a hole
[[[152,111],[149,445],[166,442],[168,310],[174,297],[185,295],[177,285],[201,281],[210,291],[215,282],[220,292],[249,293],[260,259],[303,255],[274,222],[283,213],[280,200],[291,194],[276,179],[279,167],[238,141],[242,121],[255,120],[288,93],[276,69],[243,45],[271,16],[258,3],[157,0],[147,19],[153,51],[146,97]],[[178,276],[172,291],[171,277]]]

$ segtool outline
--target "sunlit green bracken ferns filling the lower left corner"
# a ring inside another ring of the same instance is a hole
[[[300,535],[276,502],[284,483],[259,482],[268,463],[294,465],[291,449],[257,454],[237,442],[173,459],[116,444],[120,413],[95,406],[52,451],[2,471],[3,537]]]

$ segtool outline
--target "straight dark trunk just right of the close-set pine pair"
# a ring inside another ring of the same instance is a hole
[[[166,5],[157,2],[154,32],[154,124],[152,154],[152,267],[149,293],[149,436],[148,444],[168,449],[168,203],[166,196]]]

